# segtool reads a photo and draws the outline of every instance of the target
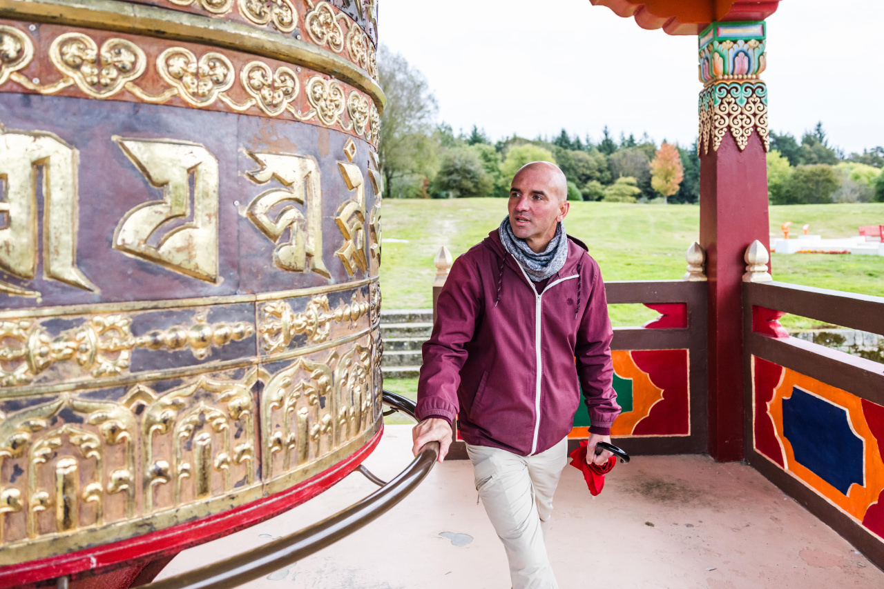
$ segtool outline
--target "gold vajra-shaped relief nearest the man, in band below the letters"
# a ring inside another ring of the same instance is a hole
[[[310,299],[302,313],[294,313],[286,301],[272,301],[262,307],[263,321],[258,333],[268,353],[285,350],[299,334],[306,334],[310,342],[320,344],[328,340],[332,321],[350,321],[355,326],[370,308],[370,303],[357,300],[355,293],[349,304],[338,306],[334,311],[326,295]]]

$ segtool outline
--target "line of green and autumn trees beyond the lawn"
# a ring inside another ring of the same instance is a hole
[[[514,133],[489,138],[473,125],[454,132],[437,124],[437,102],[427,80],[385,46],[378,72],[387,103],[381,117],[379,156],[385,194],[392,198],[507,197],[509,181],[527,162],[556,163],[568,177],[569,200],[695,203],[699,199],[697,143],[659,146],[644,133],[607,126],[594,142],[562,129],[557,136],[528,139]],[[884,201],[884,149],[845,157],[829,146],[822,124],[800,143],[789,133],[770,133],[767,157],[773,204]]]

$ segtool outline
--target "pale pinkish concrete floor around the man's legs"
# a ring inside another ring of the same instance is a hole
[[[389,480],[410,459],[411,428],[387,426],[366,466]],[[159,578],[294,532],[375,488],[355,473],[320,497],[178,555]],[[884,572],[743,464],[636,457],[592,497],[566,468],[548,540],[562,589],[884,587]],[[498,589],[506,556],[476,504],[469,461],[438,464],[412,495],[338,543],[255,580],[252,589]]]

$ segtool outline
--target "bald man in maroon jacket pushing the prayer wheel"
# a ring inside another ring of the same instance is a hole
[[[545,532],[579,389],[592,424],[587,461],[611,456],[596,457],[595,448],[610,442],[620,413],[605,286],[586,245],[561,224],[567,195],[565,175],[552,163],[516,172],[509,215],[454,261],[417,389],[415,455],[438,441],[441,462],[458,416],[514,589],[558,586]]]

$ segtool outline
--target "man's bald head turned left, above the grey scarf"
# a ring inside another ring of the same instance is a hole
[[[568,215],[568,200],[560,200],[560,174],[552,166],[522,168],[509,191],[509,225],[535,253],[555,237],[556,223]],[[562,195],[564,196],[564,195]]]

